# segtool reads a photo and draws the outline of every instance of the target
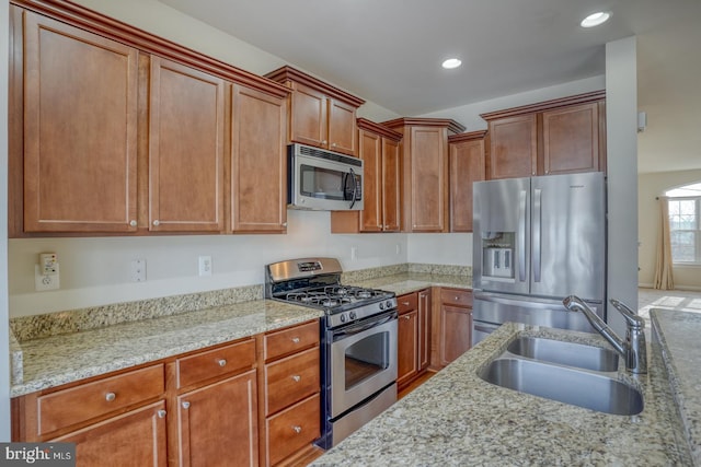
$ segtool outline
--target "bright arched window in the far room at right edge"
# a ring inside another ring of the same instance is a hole
[[[669,234],[676,265],[701,265],[701,183],[669,190]]]

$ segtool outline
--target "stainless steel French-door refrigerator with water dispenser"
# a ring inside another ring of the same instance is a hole
[[[506,322],[594,331],[562,299],[606,318],[604,174],[478,182],[473,209],[472,342]]]

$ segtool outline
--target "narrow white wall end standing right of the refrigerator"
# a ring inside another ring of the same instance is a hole
[[[637,304],[637,60],[635,37],[606,45],[608,296]],[[608,323],[623,335],[612,307]]]

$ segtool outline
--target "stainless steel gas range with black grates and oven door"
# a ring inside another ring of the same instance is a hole
[[[265,296],[322,310],[322,435],[330,448],[397,401],[397,297],[341,283],[334,258],[265,267]]]

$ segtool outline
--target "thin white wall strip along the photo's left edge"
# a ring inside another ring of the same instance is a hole
[[[0,24],[9,24],[0,1]],[[7,31],[2,28],[2,31]],[[0,90],[8,89],[8,34],[0,34]],[[8,93],[0,92],[0,187],[8,186]],[[0,442],[10,441],[10,337],[8,326],[8,190],[0,190]]]

